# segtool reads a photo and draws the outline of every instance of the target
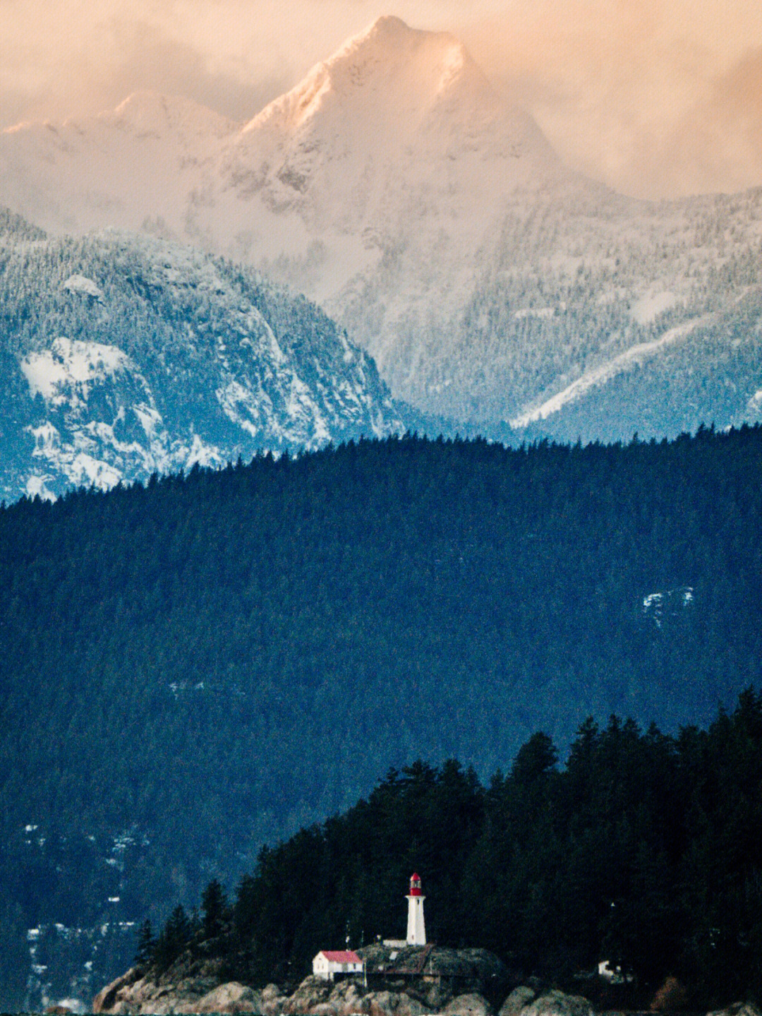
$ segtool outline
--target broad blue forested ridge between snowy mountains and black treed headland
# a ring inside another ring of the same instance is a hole
[[[1,510],[4,956],[40,928],[52,977],[58,922],[102,983],[77,929],[190,905],[390,765],[708,722],[759,683],[760,475],[759,428],[404,438]]]

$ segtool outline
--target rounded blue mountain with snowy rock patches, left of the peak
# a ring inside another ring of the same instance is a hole
[[[315,305],[176,243],[0,213],[0,499],[404,430]]]

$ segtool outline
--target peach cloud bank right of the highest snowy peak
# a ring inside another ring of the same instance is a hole
[[[583,173],[642,197],[762,184],[757,3],[513,0],[466,36]]]

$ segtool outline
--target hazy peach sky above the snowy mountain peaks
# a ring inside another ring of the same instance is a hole
[[[762,185],[759,0],[0,0],[0,127],[136,88],[248,119],[379,14],[459,36],[622,190]]]

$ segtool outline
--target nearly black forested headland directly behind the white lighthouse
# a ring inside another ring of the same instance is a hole
[[[263,849],[231,905],[212,882],[200,919],[178,908],[155,938],[143,929],[139,958],[160,972],[190,948],[223,957],[226,977],[297,980],[346,936],[402,936],[416,870],[428,940],[487,947],[514,980],[579,991],[608,960],[632,978],[620,1004],[647,1006],[676,974],[693,1008],[762,998],[762,696],[677,737],[587,719],[557,761],[536,734],[486,785],[454,760],[392,769]]]

